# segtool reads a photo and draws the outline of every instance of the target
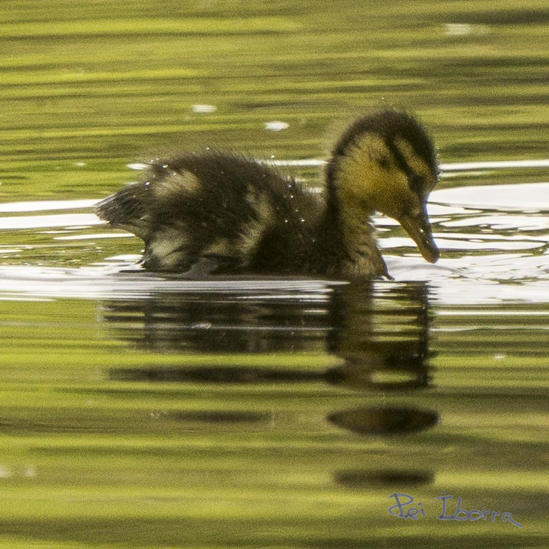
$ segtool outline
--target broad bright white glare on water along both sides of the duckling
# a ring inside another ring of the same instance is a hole
[[[396,281],[426,281],[432,288],[433,299],[444,303],[549,300],[549,221],[546,213],[540,213],[549,211],[549,183],[441,189],[434,191],[431,199],[429,214],[442,251],[436,265],[427,264],[419,257],[412,240],[404,236],[394,220],[383,216],[374,219],[380,228],[380,247],[398,254],[385,255],[389,272]],[[122,250],[118,249],[117,253],[111,252],[109,257],[81,268],[59,268],[55,267],[55,262],[50,267],[41,267],[32,260],[25,260],[26,254],[31,254],[33,249],[53,246],[53,241],[68,247],[79,241],[82,244],[78,245],[86,246],[96,239],[107,243],[131,237],[129,233],[90,232],[91,227],[103,222],[92,213],[73,210],[91,208],[96,202],[49,200],[0,204],[0,212],[5,213],[71,210],[51,215],[0,215],[0,228],[6,231],[57,227],[65,233],[63,236],[54,236],[58,231],[39,233],[44,239],[51,239],[49,244],[32,245],[22,238],[5,245],[4,249],[0,247],[0,256],[6,254],[4,262],[13,264],[13,258],[17,258],[19,263],[0,267],[2,299],[47,299],[52,296],[142,299],[173,291],[266,292],[271,298],[273,294],[287,296],[292,293],[299,297],[305,292],[309,298],[311,293],[322,298],[333,284],[276,278],[184,281],[177,276],[141,271],[135,265],[139,256],[121,254]],[[505,214],[498,210],[504,210]],[[80,232],[86,229],[87,233]],[[76,242],[62,244],[63,241]],[[108,250],[108,244],[105,246]],[[514,253],[506,253],[509,251]],[[105,255],[109,255],[108,251]],[[124,268],[135,272],[121,273]],[[381,289],[385,284],[394,283],[379,282],[376,287]],[[281,292],[282,288],[287,291]]]

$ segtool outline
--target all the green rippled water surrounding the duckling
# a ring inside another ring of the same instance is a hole
[[[439,267],[377,220],[372,285],[119,273],[141,242],[63,202],[180,148],[326,158],[383,105],[444,163],[545,159],[548,13],[3,1],[0,547],[549,546],[547,167],[443,178]],[[523,528],[437,520],[442,490]]]

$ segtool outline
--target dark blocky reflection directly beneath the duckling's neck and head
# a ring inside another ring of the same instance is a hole
[[[382,299],[372,290],[349,284],[334,292],[327,347],[345,364],[332,371],[332,382],[382,391],[427,387],[431,380],[427,287],[402,285]]]

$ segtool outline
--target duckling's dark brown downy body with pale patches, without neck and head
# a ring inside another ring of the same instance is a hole
[[[290,274],[311,264],[322,203],[270,167],[205,151],[154,160],[146,181],[105,199],[98,213],[145,242],[155,271]],[[211,265],[211,268],[208,268]],[[310,269],[308,270],[310,271]],[[197,275],[200,273],[197,272]]]

